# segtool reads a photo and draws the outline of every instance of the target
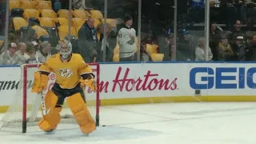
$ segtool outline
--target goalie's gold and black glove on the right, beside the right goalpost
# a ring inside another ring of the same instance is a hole
[[[94,92],[97,90],[96,82],[94,81],[94,74],[83,74],[82,78],[83,79],[80,79],[82,86],[88,86],[90,90],[93,90]]]

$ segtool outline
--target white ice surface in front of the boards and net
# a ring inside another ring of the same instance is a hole
[[[256,103],[102,106],[100,124],[88,137],[73,124],[51,135],[0,132],[0,144],[256,144]]]

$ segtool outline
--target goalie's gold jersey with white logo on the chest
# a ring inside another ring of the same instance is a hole
[[[72,54],[67,62],[62,62],[60,54],[54,54],[48,58],[39,71],[53,72],[56,75],[56,83],[62,89],[72,89],[78,85],[82,74],[90,74],[90,66],[83,61],[80,54]]]

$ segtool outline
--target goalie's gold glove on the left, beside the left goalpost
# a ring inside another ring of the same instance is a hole
[[[40,72],[34,73],[34,83],[32,86],[33,93],[42,93],[42,90],[47,89],[48,75],[40,74]]]

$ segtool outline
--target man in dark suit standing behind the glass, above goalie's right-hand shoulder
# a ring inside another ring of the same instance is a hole
[[[82,55],[85,62],[95,62],[97,56],[96,28],[94,27],[94,18],[89,18],[78,30],[78,53]],[[98,50],[100,51],[100,50]],[[98,57],[99,58],[99,57]]]

